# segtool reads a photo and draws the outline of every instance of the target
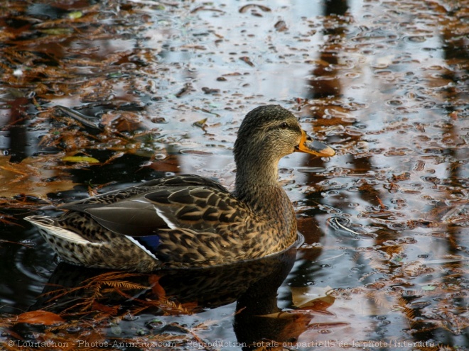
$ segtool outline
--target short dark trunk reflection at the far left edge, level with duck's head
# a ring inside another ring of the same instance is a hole
[[[27,155],[26,152],[26,128],[24,126],[24,116],[28,99],[19,97],[9,101],[10,108],[10,162],[21,162]]]

